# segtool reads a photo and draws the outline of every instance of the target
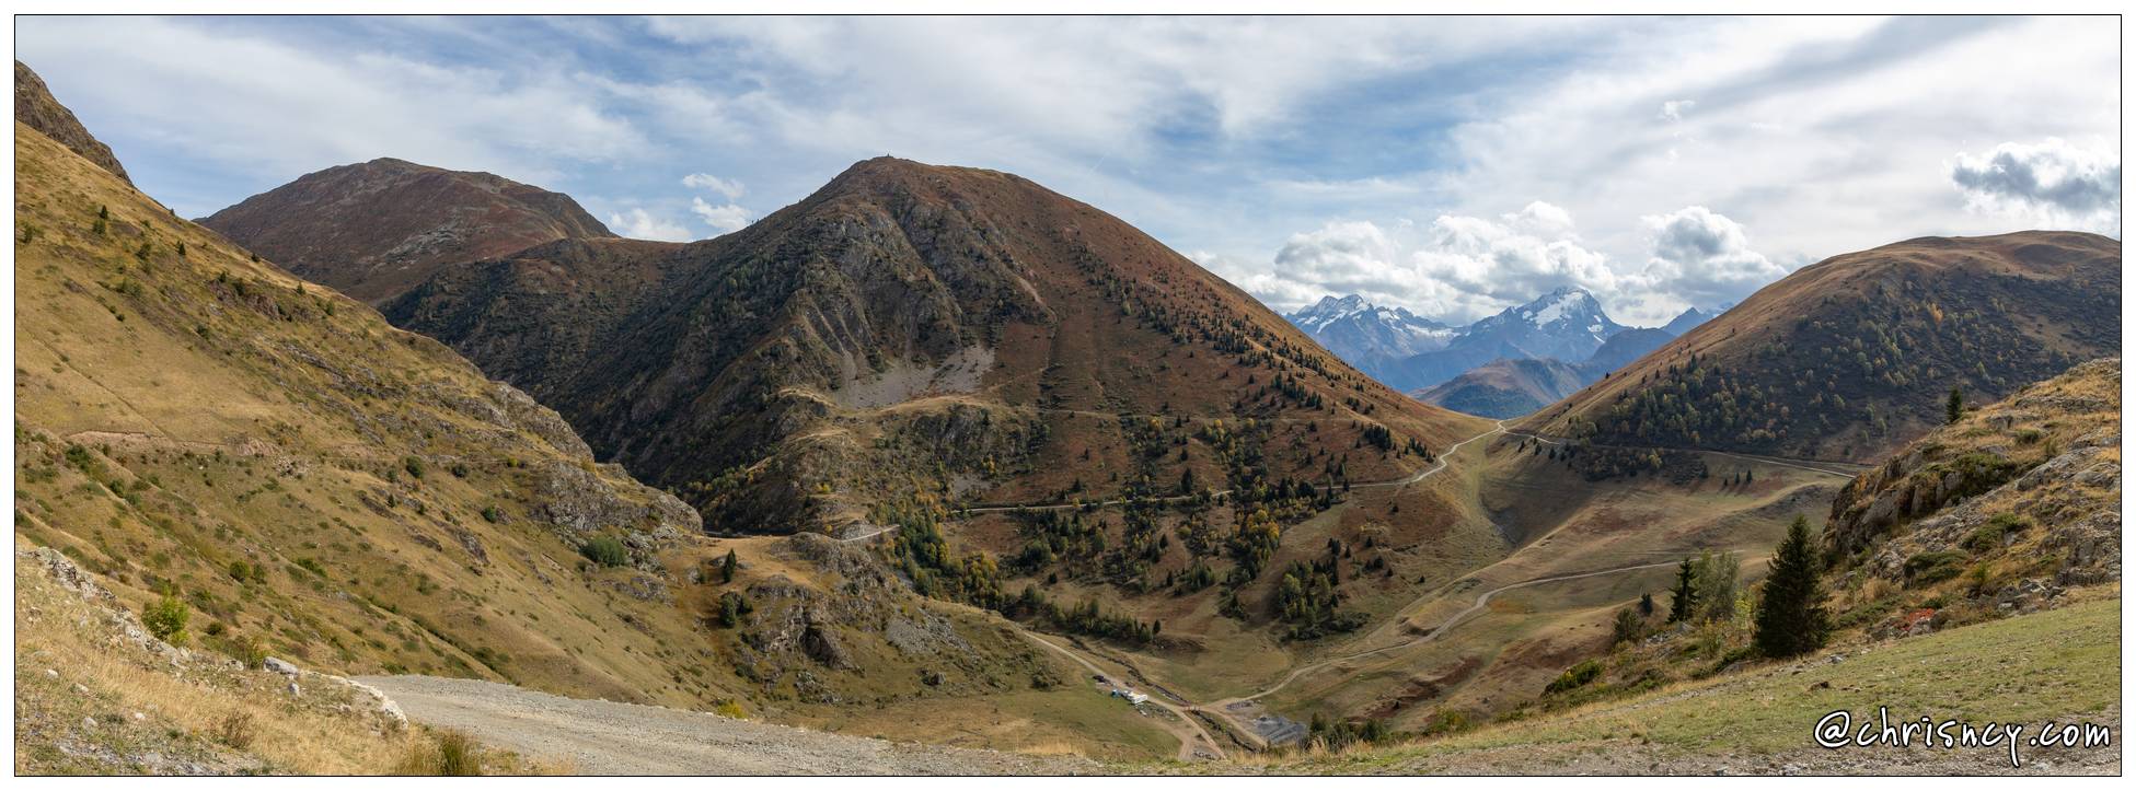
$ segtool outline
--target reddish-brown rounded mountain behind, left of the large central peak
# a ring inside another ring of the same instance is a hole
[[[564,194],[391,158],[310,173],[201,224],[374,305],[444,267],[555,239],[613,237]]]

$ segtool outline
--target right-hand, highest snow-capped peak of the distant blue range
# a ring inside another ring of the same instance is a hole
[[[1401,390],[1429,388],[1497,358],[1585,360],[1625,330],[1602,303],[1579,288],[1559,288],[1461,328],[1444,350],[1391,362],[1382,380]]]

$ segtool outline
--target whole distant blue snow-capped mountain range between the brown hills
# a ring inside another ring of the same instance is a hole
[[[1611,320],[1593,294],[1559,288],[1467,326],[1371,305],[1356,294],[1324,296],[1286,318],[1397,390],[1448,409],[1512,418],[1572,394],[1715,316],[1719,309],[1694,307],[1668,326],[1632,328]]]

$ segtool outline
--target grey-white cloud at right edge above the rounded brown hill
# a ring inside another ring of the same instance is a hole
[[[1978,211],[2121,232],[2121,160],[2113,149],[2076,147],[2053,136],[2004,143],[1986,154],[1961,154],[1950,166],[1950,183]]]

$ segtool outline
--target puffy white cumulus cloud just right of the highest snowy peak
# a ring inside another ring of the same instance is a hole
[[[1786,267],[1752,249],[1739,222],[1713,209],[1683,207],[1640,222],[1653,232],[1653,256],[1638,275],[1643,290],[1709,307],[1741,301],[1788,275]]]

